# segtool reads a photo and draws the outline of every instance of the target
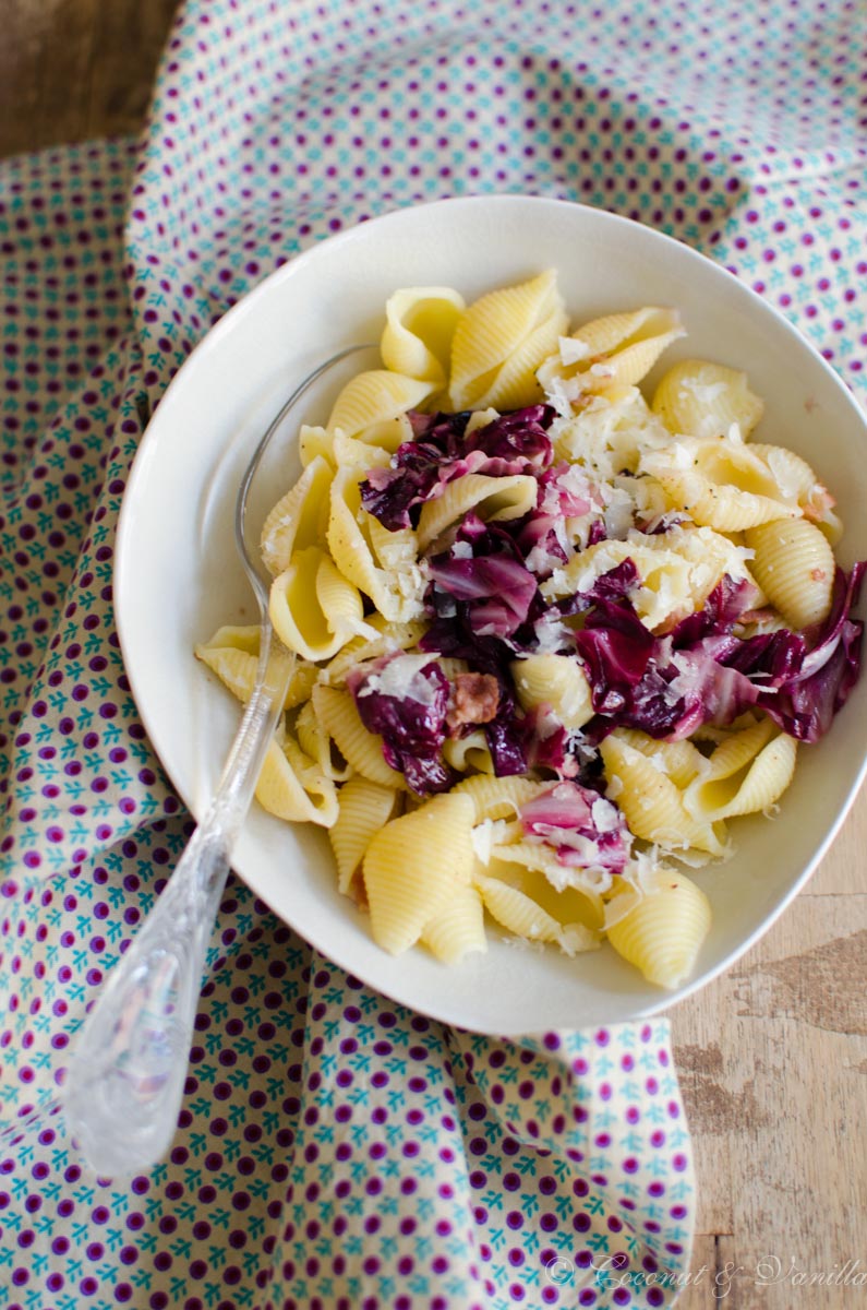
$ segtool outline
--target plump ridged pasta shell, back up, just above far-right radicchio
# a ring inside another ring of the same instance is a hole
[[[795,519],[750,528],[747,544],[756,555],[753,574],[767,599],[792,627],[828,617],[834,583],[834,555],[820,529]]]

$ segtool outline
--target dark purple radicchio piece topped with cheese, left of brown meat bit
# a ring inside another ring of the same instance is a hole
[[[441,751],[449,681],[431,656],[384,656],[352,669],[347,686],[364,727],[382,738],[385,762],[416,795],[453,786]]]

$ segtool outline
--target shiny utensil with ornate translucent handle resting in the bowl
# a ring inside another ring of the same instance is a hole
[[[229,858],[295,669],[293,652],[271,626],[267,584],[248,546],[250,487],[271,439],[301,396],[341,360],[365,348],[339,351],[296,386],[257,445],[238,489],[234,538],[259,605],[257,680],[213,799],[162,895],[109,975],[67,1073],[67,1125],[100,1176],[148,1170],[174,1136],[204,955]]]

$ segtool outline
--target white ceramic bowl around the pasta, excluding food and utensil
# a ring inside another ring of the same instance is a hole
[[[238,706],[193,658],[223,622],[251,622],[234,555],[232,508],[253,444],[280,401],[341,346],[376,341],[401,286],[447,284],[464,296],[546,267],[572,321],[644,304],[680,309],[688,337],[664,356],[747,369],[766,413],[758,436],[805,456],[838,496],[839,549],[867,557],[867,428],[836,373],[782,316],[709,259],[599,210],[525,196],[444,200],[389,214],[286,265],[193,352],[152,419],[126,493],[115,605],[123,655],[151,740],[178,791],[202,815],[238,722]],[[334,388],[333,388],[334,390]],[[329,397],[304,406],[323,421]],[[267,499],[289,485],[284,458]],[[364,914],[339,896],[325,832],[289,827],[254,804],[234,867],[287,924],[386,996],[449,1023],[519,1034],[652,1014],[707,982],[773,922],[832,841],[864,770],[867,677],[829,736],[803,749],[771,823],[732,824],[735,858],[697,875],[714,924],[693,979],[665,993],[605,946],[567,959],[490,934],[486,955],[445,968],[416,948],[393,959]]]

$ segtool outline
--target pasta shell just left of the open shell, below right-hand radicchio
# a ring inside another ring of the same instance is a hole
[[[681,790],[651,757],[634,749],[617,732],[605,738],[600,753],[609,785],[614,778],[622,785],[617,804],[630,832],[672,853],[693,849],[723,854],[723,829],[693,819],[684,806]]]

